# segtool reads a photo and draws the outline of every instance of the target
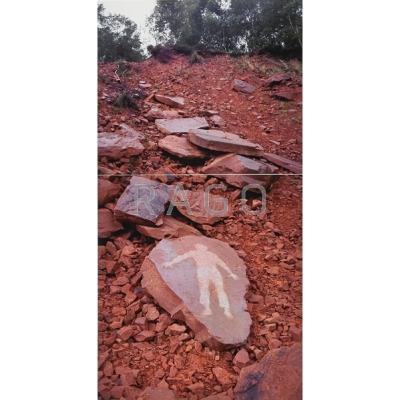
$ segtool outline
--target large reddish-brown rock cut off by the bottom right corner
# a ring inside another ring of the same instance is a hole
[[[259,363],[243,368],[235,400],[301,400],[302,349],[298,344],[269,352]]]

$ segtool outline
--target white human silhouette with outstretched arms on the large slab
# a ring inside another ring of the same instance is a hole
[[[196,264],[196,276],[199,282],[199,300],[200,304],[204,307],[203,315],[212,314],[210,308],[210,285],[212,283],[217,291],[219,306],[224,309],[224,314],[227,318],[233,318],[224,282],[217,266],[223,268],[232,279],[237,280],[239,279],[238,276],[232,273],[229,267],[215,253],[209,251],[207,246],[196,244],[195,249],[175,257],[172,261],[166,262],[164,267],[172,267],[172,265],[181,261],[189,258],[193,259]]]

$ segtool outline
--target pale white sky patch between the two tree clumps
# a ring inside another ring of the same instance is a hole
[[[108,13],[122,14],[136,22],[144,48],[149,44],[154,44],[154,39],[146,27],[146,21],[154,10],[156,0],[104,0],[100,2]]]

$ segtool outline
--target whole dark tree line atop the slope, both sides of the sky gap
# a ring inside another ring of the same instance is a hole
[[[148,20],[163,46],[210,52],[302,54],[302,0],[157,0]],[[98,6],[102,61],[143,58],[137,25]]]

